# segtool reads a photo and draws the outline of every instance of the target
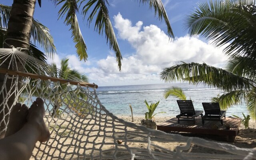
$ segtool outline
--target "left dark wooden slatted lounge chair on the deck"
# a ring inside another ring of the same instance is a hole
[[[195,124],[195,118],[199,115],[201,115],[201,117],[203,116],[204,111],[195,110],[192,100],[177,100],[177,103],[180,108],[180,114],[176,116],[176,118],[178,118],[178,123],[180,123],[180,120],[183,120],[194,121]]]

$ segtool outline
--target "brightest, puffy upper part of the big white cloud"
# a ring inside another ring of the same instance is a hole
[[[134,57],[144,65],[166,67],[176,61],[184,61],[220,66],[226,61],[221,48],[205,43],[198,37],[184,36],[171,42],[157,26],[144,26],[141,30],[142,22],[132,26],[130,20],[122,18],[120,13],[114,16],[114,22],[119,38],[127,40],[136,49]]]

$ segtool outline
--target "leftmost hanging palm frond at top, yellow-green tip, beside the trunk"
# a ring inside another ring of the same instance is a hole
[[[53,0],[56,5],[62,4],[59,10],[59,18],[66,15],[64,23],[70,25],[70,30],[72,31],[73,42],[75,43],[76,53],[80,60],[86,61],[88,58],[87,48],[84,42],[84,38],[79,28],[76,13],[78,12],[78,6],[76,0]]]

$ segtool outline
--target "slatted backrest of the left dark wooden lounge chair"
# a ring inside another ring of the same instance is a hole
[[[192,100],[177,100],[177,103],[180,108],[180,114],[195,114],[195,109]]]

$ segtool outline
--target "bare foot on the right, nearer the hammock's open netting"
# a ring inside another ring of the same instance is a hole
[[[28,109],[27,121],[32,124],[41,133],[38,141],[45,142],[50,138],[50,132],[44,122],[44,101],[41,98],[36,98],[36,101]]]

